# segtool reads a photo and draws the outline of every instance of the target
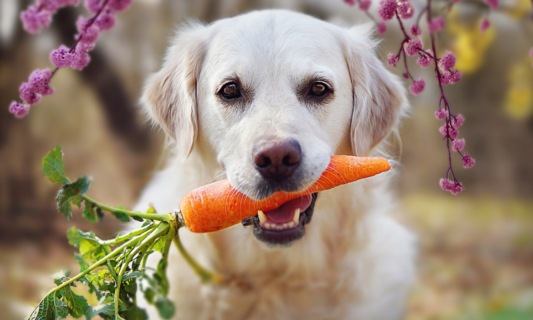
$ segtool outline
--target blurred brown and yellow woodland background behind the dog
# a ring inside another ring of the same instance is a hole
[[[416,9],[424,5],[412,1]],[[50,274],[65,267],[77,272],[66,238],[70,226],[94,230],[100,238],[121,228],[113,218],[91,224],[80,214],[66,221],[57,212],[58,187],[41,175],[41,159],[50,149],[63,146],[68,176],[92,176],[90,196],[112,206],[131,208],[161,168],[163,136],[142,117],[138,100],[177,23],[264,8],[345,26],[368,20],[342,0],[135,0],[117,15],[117,26],[102,33],[85,70],[61,70],[53,78],[55,94],[15,119],[8,106],[18,100],[18,86],[32,70],[50,68],[50,50],[70,46],[77,16],[88,16],[82,6],[63,9],[48,30],[29,36],[18,14],[30,2],[0,0],[0,310],[6,320],[29,314],[53,287]],[[376,9],[374,1],[374,16]],[[409,63],[414,77],[423,76],[427,84],[418,97],[410,95],[401,174],[394,183],[402,220],[419,235],[421,247],[409,320],[533,319],[532,3],[502,0],[488,16],[492,26],[481,32],[487,15],[483,2],[463,1],[447,15],[437,38],[439,55],[453,51],[463,73],[445,92],[452,112],[466,119],[460,137],[476,160],[465,170],[453,154],[465,186],[458,196],[438,186],[448,157],[438,132],[441,121],[434,117],[440,96],[434,75]],[[379,37],[386,62],[402,41],[396,21]],[[389,69],[402,75],[400,67]]]

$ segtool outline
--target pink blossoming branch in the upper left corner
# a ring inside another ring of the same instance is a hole
[[[41,28],[48,28],[52,16],[65,6],[77,6],[80,0],[36,0],[36,4],[21,13],[23,28],[28,33],[38,33]],[[34,70],[28,82],[23,82],[18,89],[21,100],[11,102],[9,112],[21,118],[28,114],[31,105],[35,105],[45,95],[53,94],[50,81],[62,68],[82,70],[90,62],[88,52],[95,48],[99,33],[113,28],[114,14],[126,10],[131,0],[85,0],[85,8],[93,15],[86,19],[80,16],[76,22],[78,34],[74,44],[68,48],[61,45],[50,53],[53,71],[46,68]]]

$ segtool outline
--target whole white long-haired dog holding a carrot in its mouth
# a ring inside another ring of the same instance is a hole
[[[368,27],[279,10],[182,28],[143,96],[177,155],[137,210],[173,212],[185,193],[224,176],[252,198],[301,190],[332,154],[378,154],[407,102],[375,46]],[[201,284],[172,252],[176,319],[401,318],[416,250],[389,217],[390,178],[298,198],[249,227],[181,230],[192,255],[228,281]]]

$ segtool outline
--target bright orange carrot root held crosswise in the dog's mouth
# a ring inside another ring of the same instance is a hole
[[[180,211],[193,233],[208,233],[228,228],[257,214],[272,210],[294,198],[325,191],[390,169],[386,159],[367,156],[331,156],[322,176],[304,191],[279,191],[256,201],[230,186],[227,180],[210,183],[190,191],[181,199]]]

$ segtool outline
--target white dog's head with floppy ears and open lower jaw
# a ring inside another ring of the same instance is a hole
[[[396,126],[397,80],[360,28],[259,11],[183,29],[144,102],[184,154],[216,154],[250,198],[310,186],[331,154],[367,154]],[[243,221],[269,244],[304,235],[317,195]]]

